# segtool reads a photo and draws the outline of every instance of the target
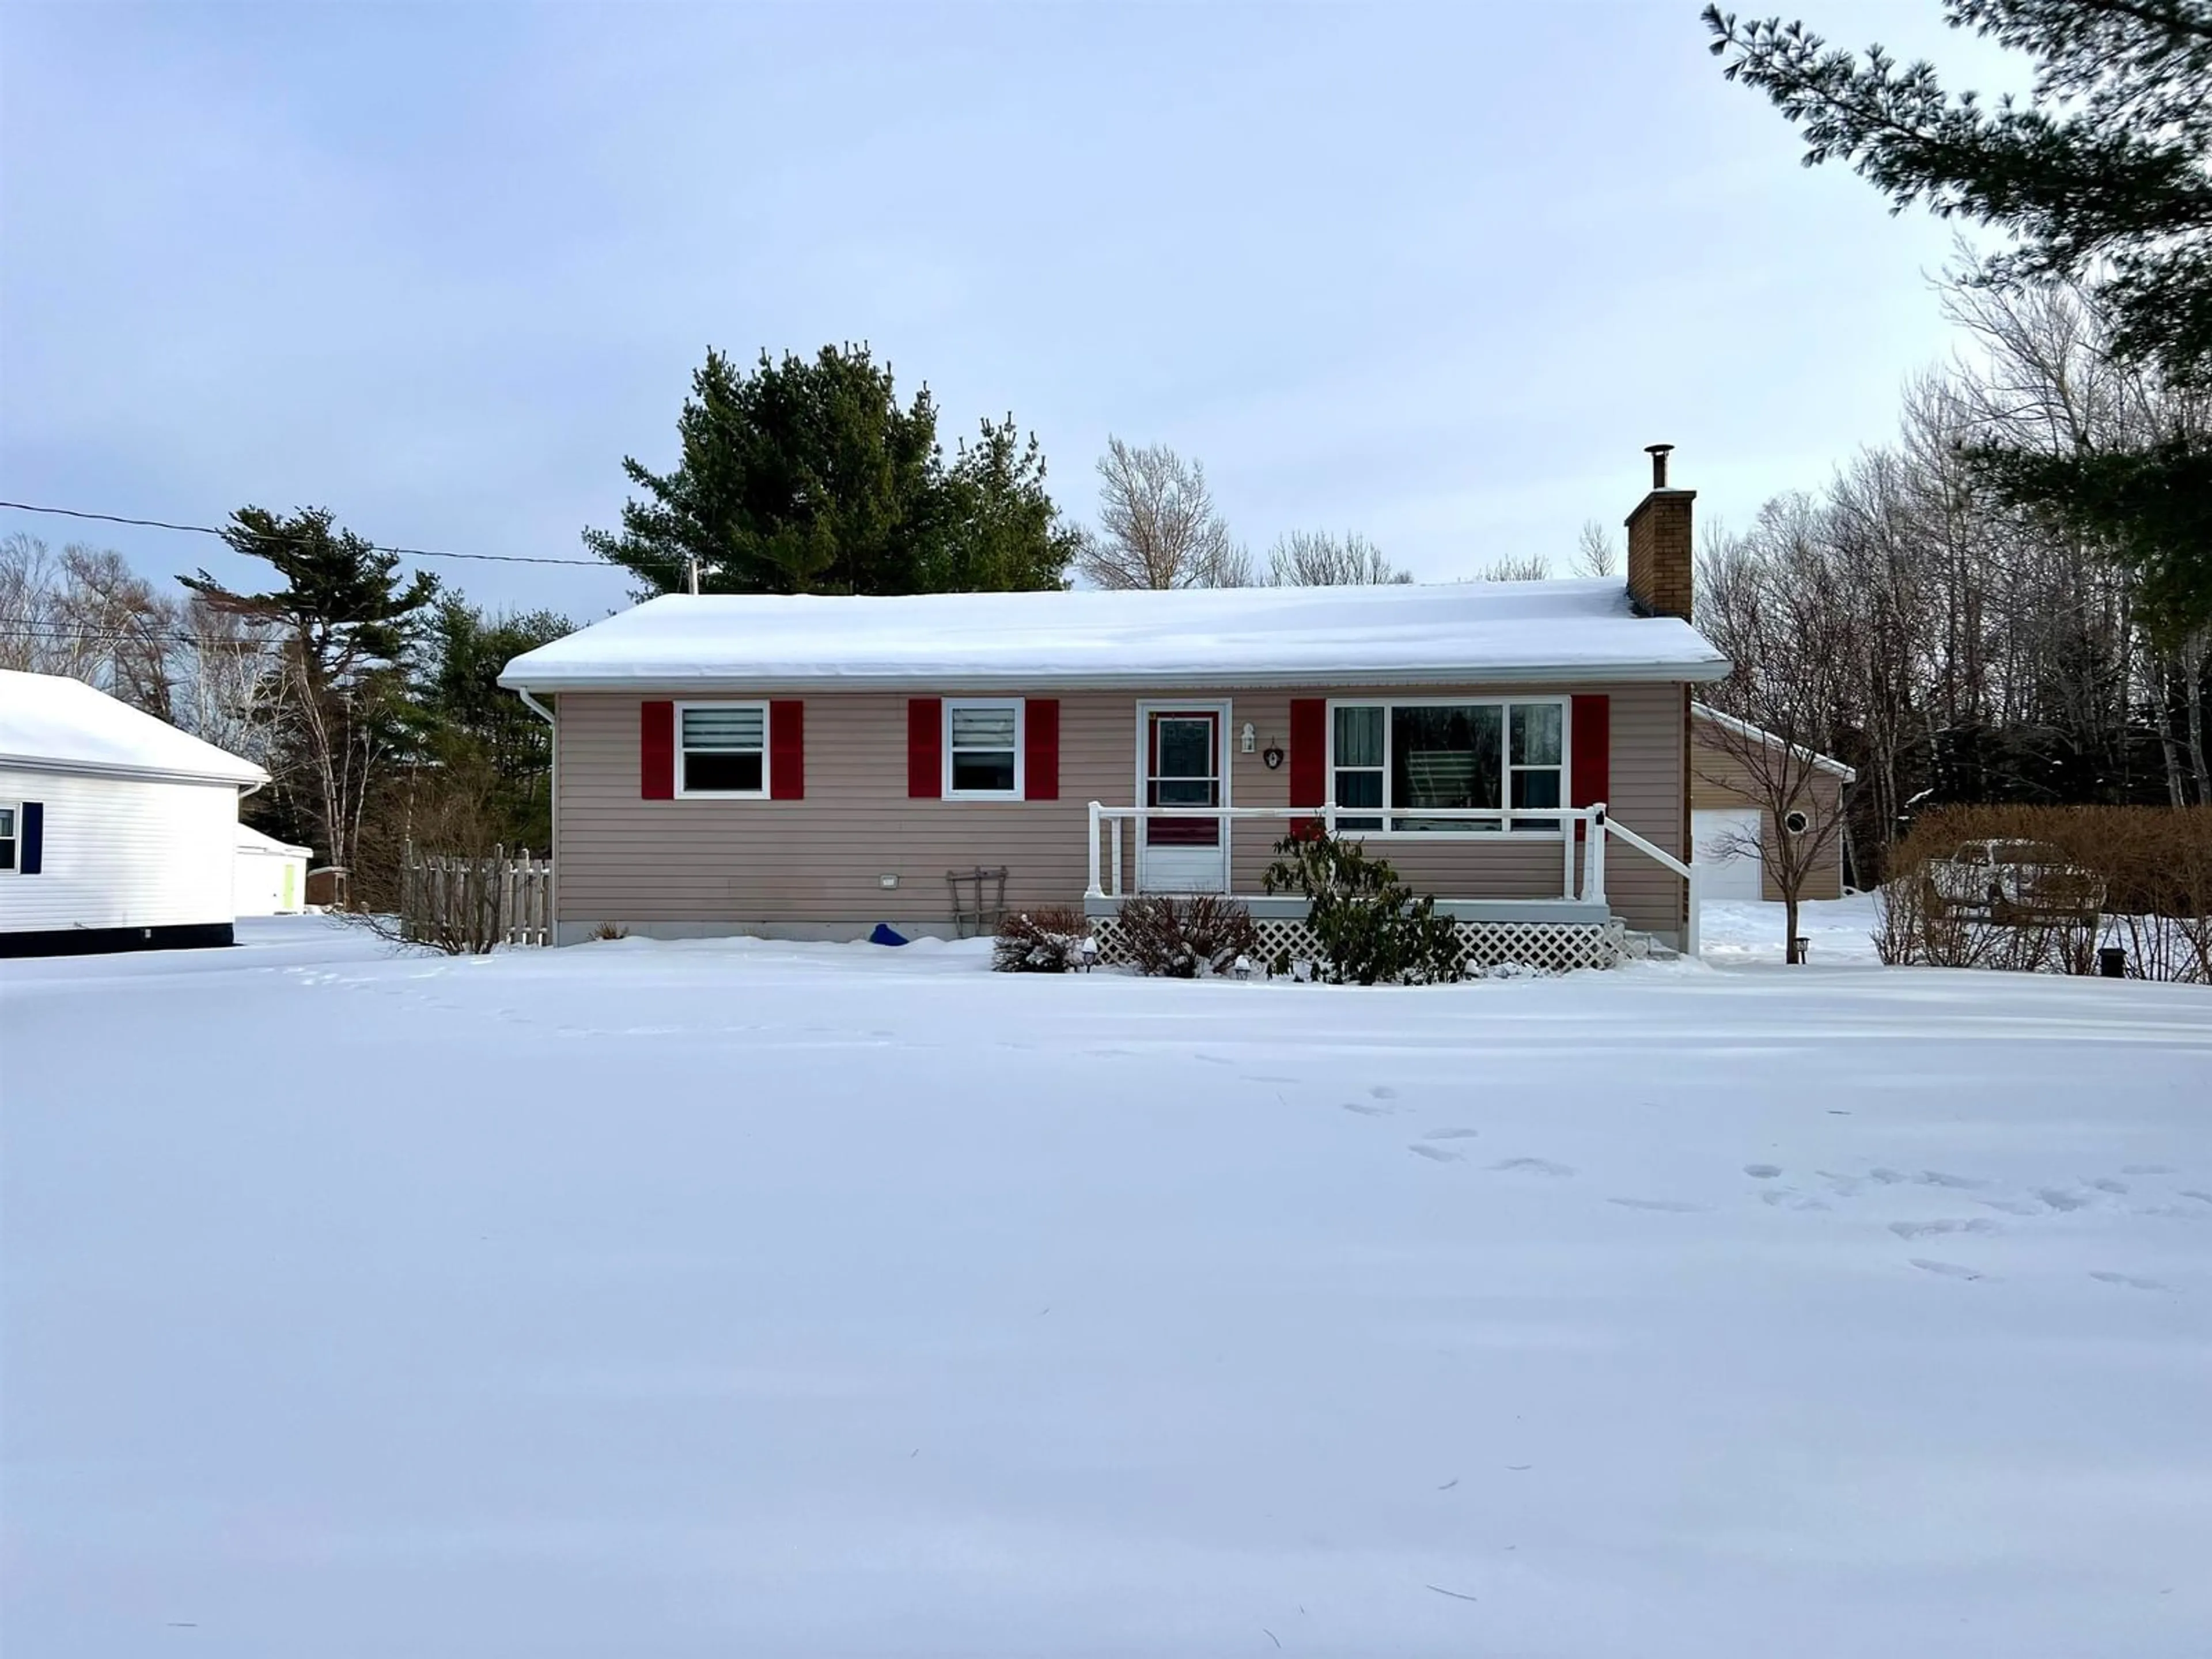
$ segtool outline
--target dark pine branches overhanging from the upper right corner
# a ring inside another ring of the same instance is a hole
[[[1801,22],[1705,7],[1712,51],[1805,137],[1902,210],[2011,232],[1975,272],[1993,288],[2077,281],[2112,352],[2183,392],[2212,387],[2212,0],[1944,0],[2035,60],[2035,93],[1986,104],[1880,46],[1832,51]],[[2128,449],[1973,451],[2011,502],[2099,538],[2146,575],[2174,626],[2212,617],[2212,438],[2181,427]]]

